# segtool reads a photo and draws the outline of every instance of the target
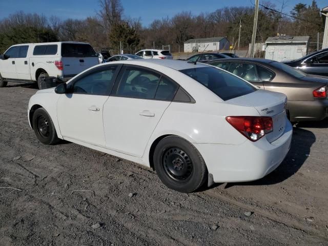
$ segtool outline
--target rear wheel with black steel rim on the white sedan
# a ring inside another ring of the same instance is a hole
[[[177,136],[161,139],[154,151],[154,168],[159,179],[170,189],[193,192],[203,185],[207,168],[198,150]]]

